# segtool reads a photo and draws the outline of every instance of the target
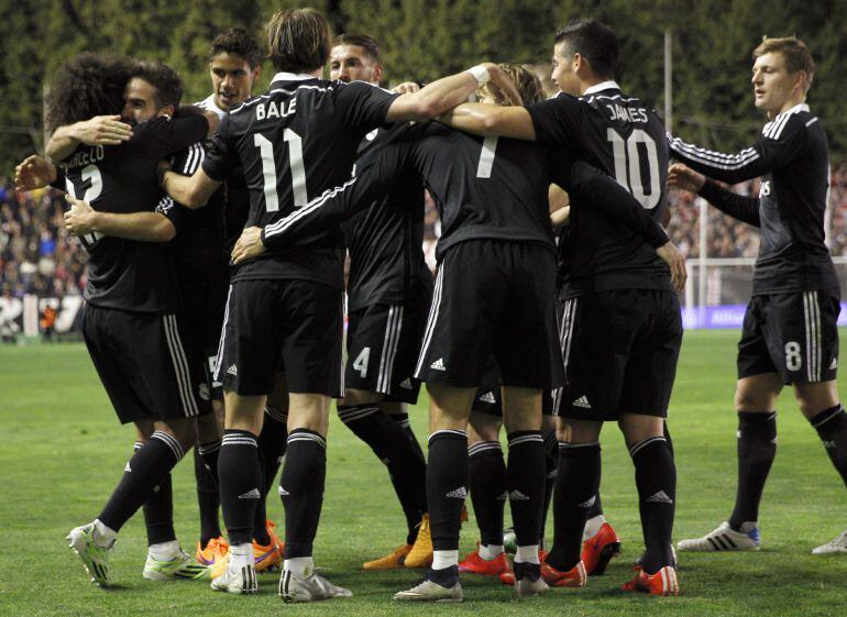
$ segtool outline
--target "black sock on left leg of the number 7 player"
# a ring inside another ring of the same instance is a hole
[[[468,434],[446,429],[429,436],[427,503],[436,551],[459,550],[459,520],[468,497]]]

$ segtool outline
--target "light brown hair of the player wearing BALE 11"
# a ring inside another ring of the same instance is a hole
[[[276,70],[310,73],[329,60],[332,33],[312,8],[277,11],[265,26],[267,57]]]

